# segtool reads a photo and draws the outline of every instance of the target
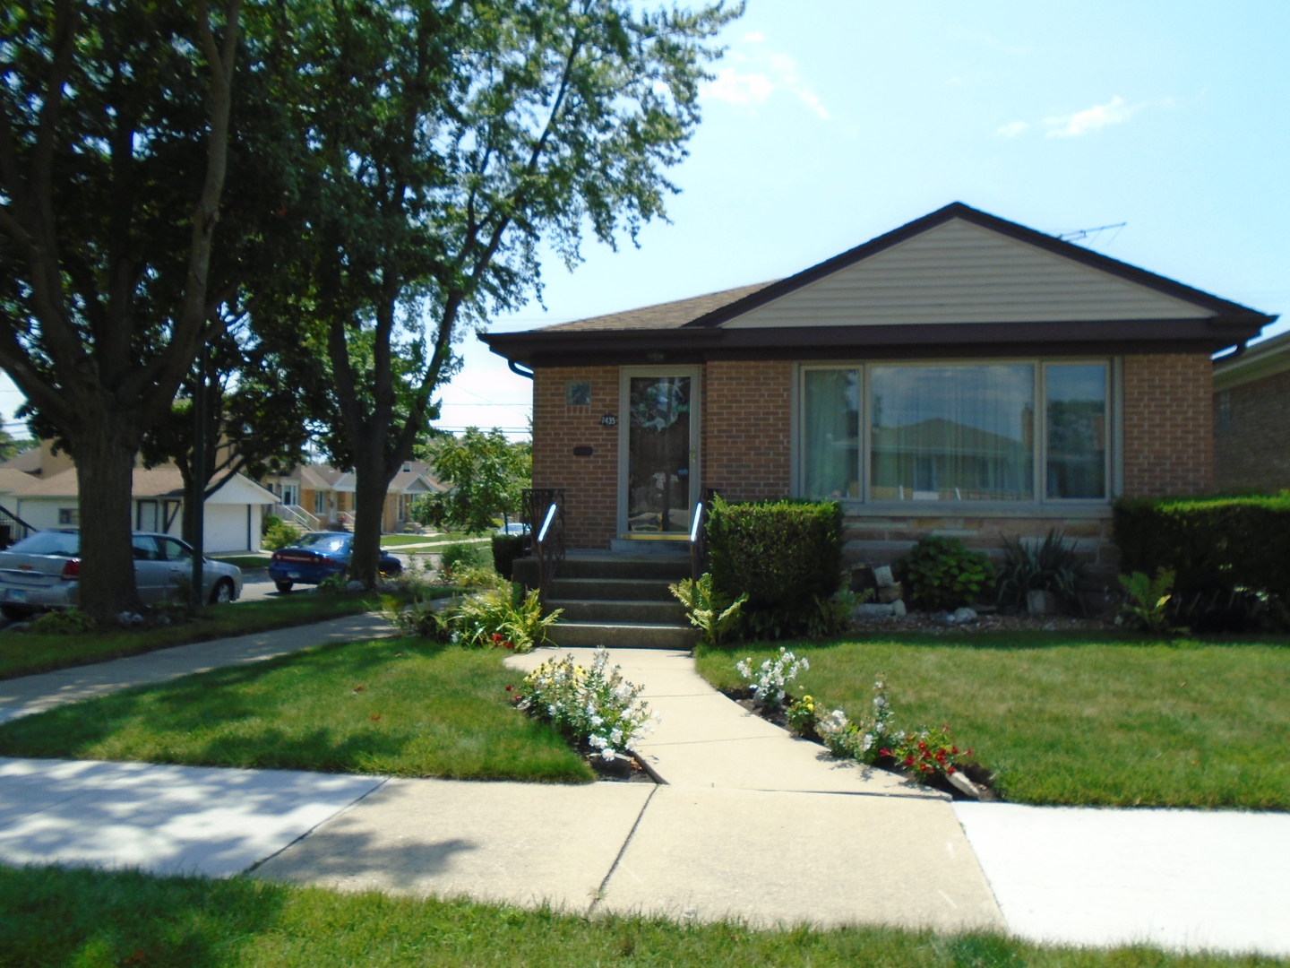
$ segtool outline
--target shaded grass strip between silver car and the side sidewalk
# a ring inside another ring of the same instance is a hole
[[[452,589],[444,589],[452,595]],[[53,669],[104,662],[121,656],[152,652],[190,641],[209,641],[228,635],[248,635],[270,629],[322,622],[379,608],[379,596],[368,592],[337,595],[290,595],[264,601],[235,601],[205,605],[199,620],[143,631],[92,632],[89,635],[32,635],[0,632],[0,679],[46,672]]]

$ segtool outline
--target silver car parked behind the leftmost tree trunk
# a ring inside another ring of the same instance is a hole
[[[134,582],[143,604],[164,601],[192,578],[192,549],[169,534],[134,532]],[[201,565],[201,592],[212,603],[241,595],[241,569],[209,558]],[[26,618],[32,612],[76,604],[80,586],[80,533],[37,530],[0,551],[0,613]]]

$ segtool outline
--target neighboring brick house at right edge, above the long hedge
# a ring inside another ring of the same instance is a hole
[[[1290,488],[1290,333],[1214,364],[1214,466],[1220,490]]]

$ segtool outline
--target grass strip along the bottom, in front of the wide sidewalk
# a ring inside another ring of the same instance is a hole
[[[250,878],[0,869],[0,963],[12,968],[1202,968],[1285,965],[1148,947],[1041,947],[993,934],[894,928],[751,931],[639,916],[342,894]]]

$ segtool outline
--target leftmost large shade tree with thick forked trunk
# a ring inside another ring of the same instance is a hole
[[[135,456],[227,297],[210,262],[240,15],[240,0],[0,5],[0,367],[76,461],[80,599],[98,614],[137,599]]]

